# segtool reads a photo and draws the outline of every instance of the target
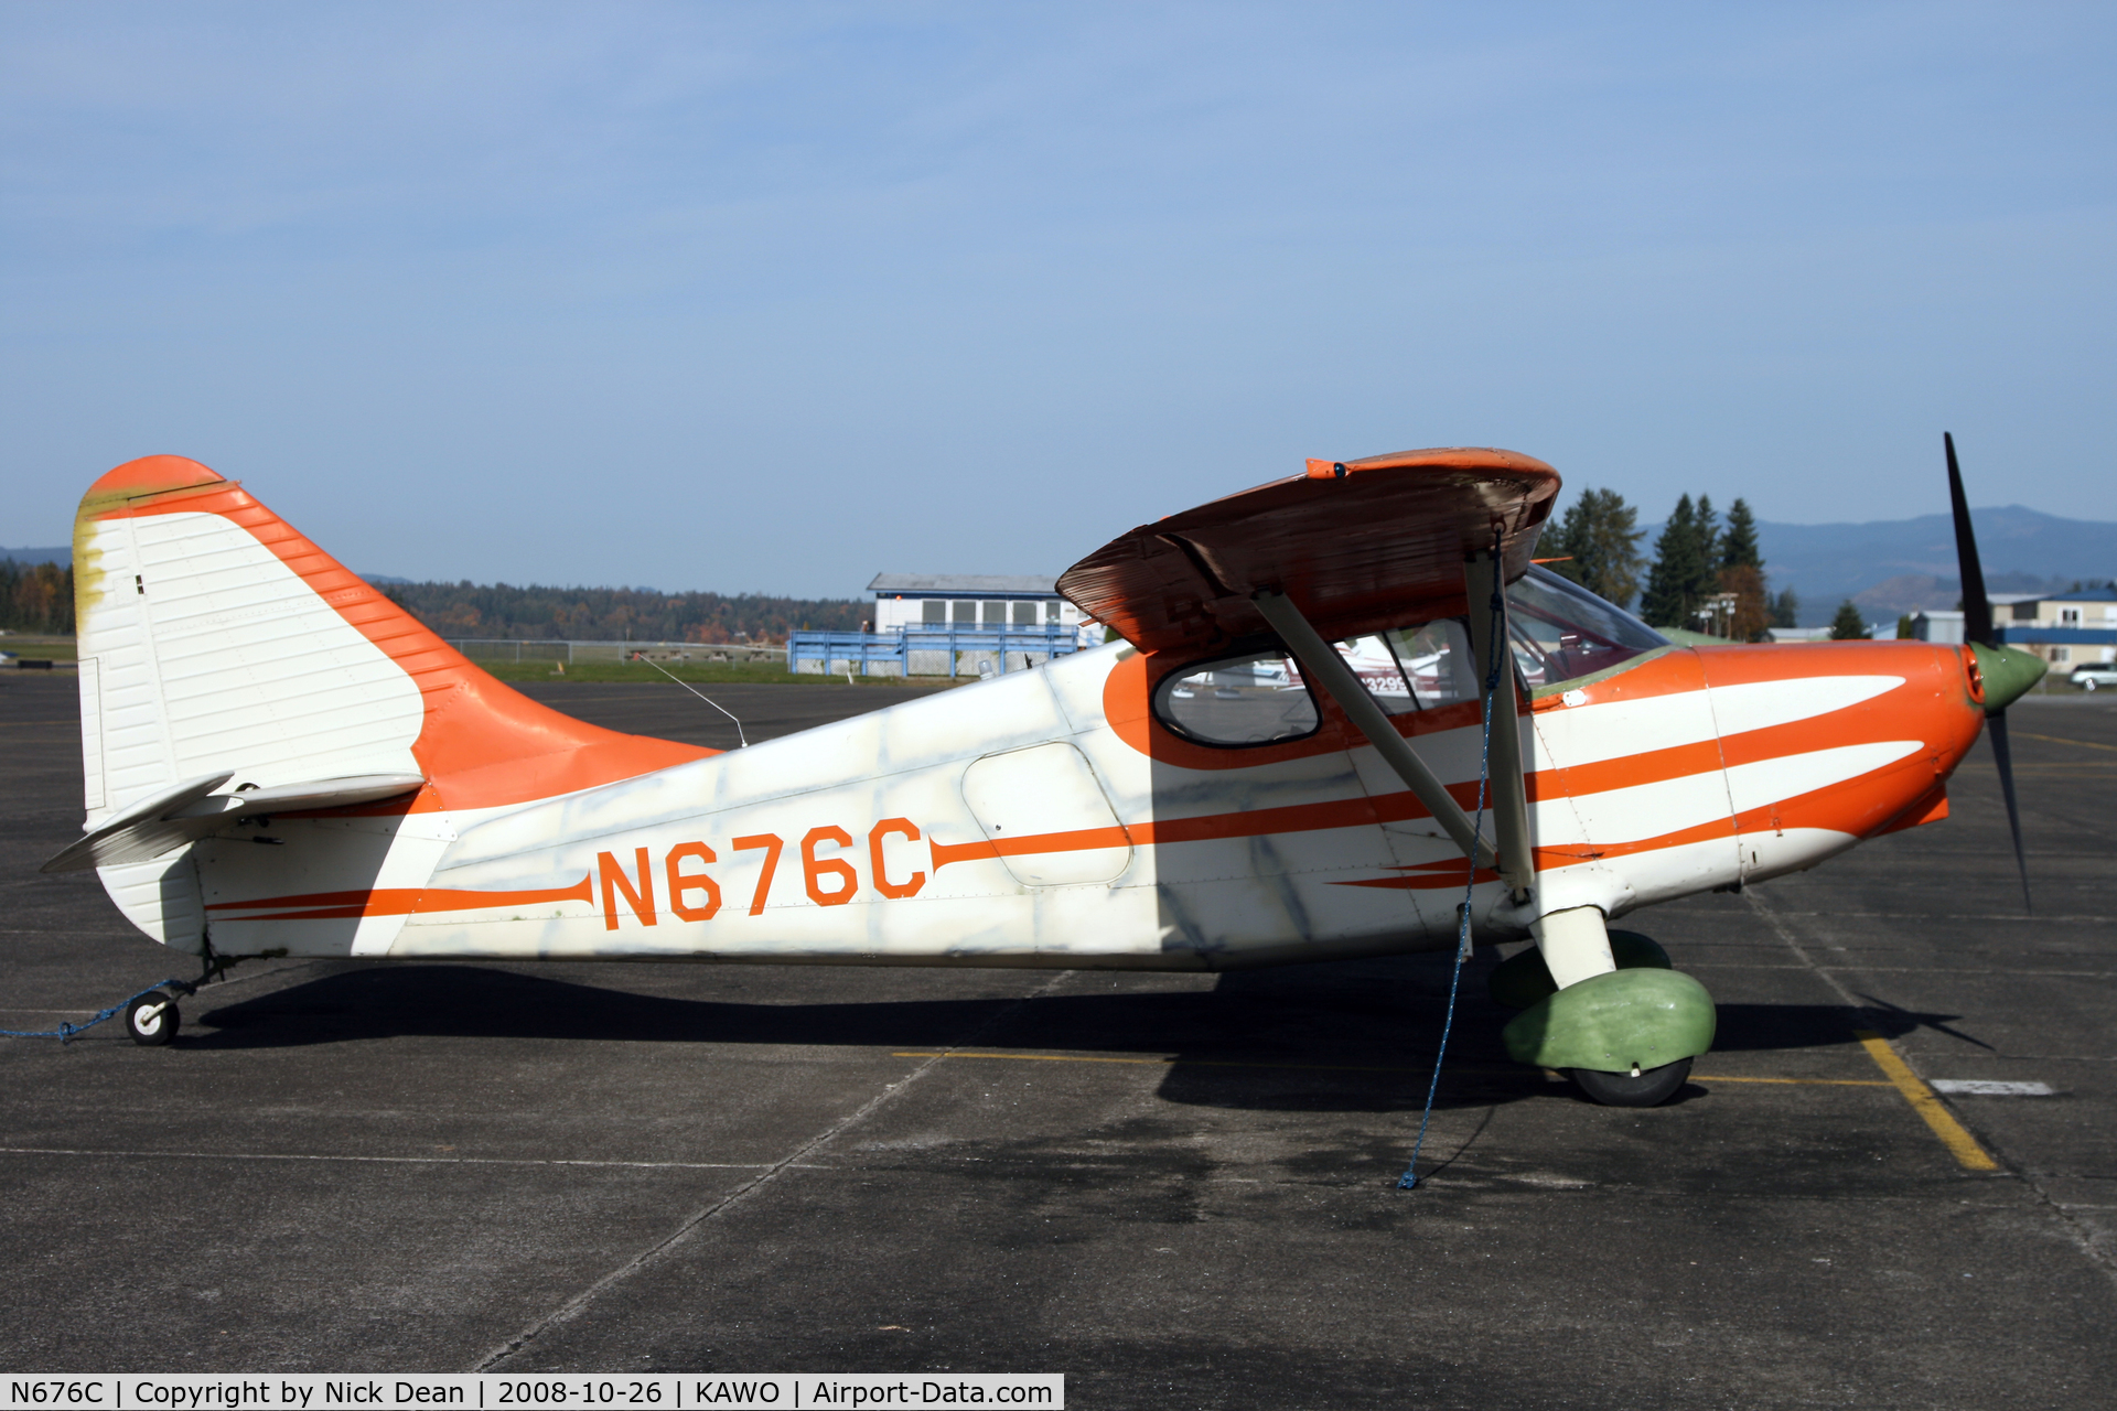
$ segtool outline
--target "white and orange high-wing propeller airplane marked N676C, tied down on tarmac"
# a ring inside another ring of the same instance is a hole
[[[1473,943],[1535,941],[1490,979],[1507,1053],[1647,1106],[1715,1009],[1613,922],[1946,819],[1986,726],[2020,859],[2003,711],[2043,662],[1996,643],[1952,438],[1948,470],[1967,645],[1672,645],[1531,561],[1556,470],[1406,451],[1088,554],[1058,590],[1116,641],[713,751],[529,700],[241,484],[144,457],[74,527],[87,821],[47,872],[95,867],[207,975],[1222,971],[1446,950],[1467,905]]]

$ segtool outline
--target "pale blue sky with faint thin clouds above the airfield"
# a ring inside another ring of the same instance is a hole
[[[15,4],[0,544],[174,451],[349,565],[1054,573],[1302,457],[2117,520],[2117,19]]]

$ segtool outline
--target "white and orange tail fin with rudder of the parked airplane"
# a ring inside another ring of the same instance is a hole
[[[396,810],[464,814],[713,753],[508,690],[239,484],[176,455],[119,465],[83,497],[74,607],[89,829],[222,772],[231,789],[417,774],[426,785]],[[169,859],[104,876],[142,929],[182,943],[195,908]]]

